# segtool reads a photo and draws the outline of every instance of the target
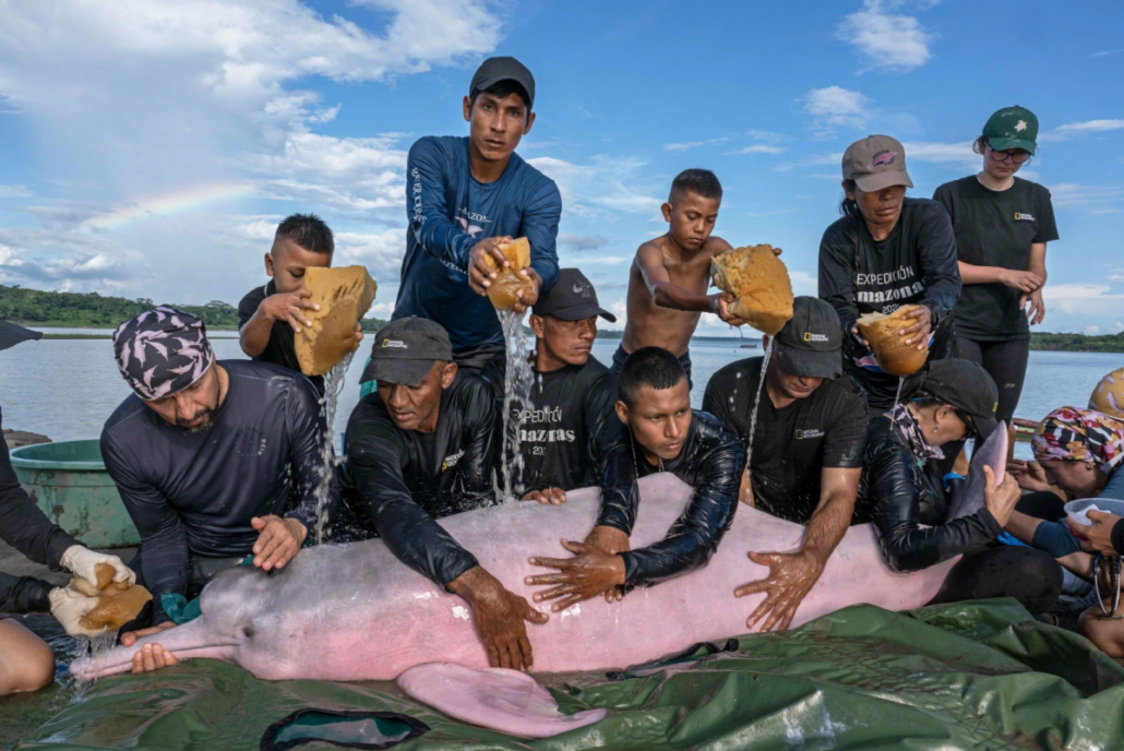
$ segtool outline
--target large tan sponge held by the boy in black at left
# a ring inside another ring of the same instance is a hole
[[[320,309],[303,311],[312,325],[300,329],[293,345],[300,371],[323,376],[359,347],[355,324],[370,310],[379,286],[363,266],[314,266],[305,272],[305,289]]]

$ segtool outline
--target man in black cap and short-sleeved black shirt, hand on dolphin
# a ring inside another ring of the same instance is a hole
[[[762,630],[788,628],[819,579],[854,513],[867,445],[867,401],[842,373],[842,329],[832,306],[813,297],[794,301],[792,318],[777,333],[761,386],[762,358],[732,362],[711,378],[703,409],[753,443],[742,478],[742,499],[808,527],[795,553],[750,553],[770,567],[768,578],[736,590],[769,596],[750,616]],[[763,346],[769,346],[764,337]],[[756,395],[758,422],[750,435]]]

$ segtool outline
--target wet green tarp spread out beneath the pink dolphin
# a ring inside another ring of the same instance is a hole
[[[404,751],[1124,748],[1124,669],[1014,600],[863,605],[738,641],[642,678],[542,676],[563,712],[609,715],[540,741],[464,725],[388,684],[270,682],[200,660],[106,679],[17,748],[256,751],[272,723],[306,708],[398,713],[429,729]]]

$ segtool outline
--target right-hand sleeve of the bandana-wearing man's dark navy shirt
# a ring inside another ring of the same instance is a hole
[[[289,428],[289,467],[293,472],[296,489],[293,505],[285,517],[294,518],[311,532],[316,527],[317,505],[323,498],[324,512],[330,518],[338,501],[335,473],[325,461],[328,428],[324,410],[312,384],[296,378],[285,399],[285,424]],[[329,445],[329,444],[328,444]]]

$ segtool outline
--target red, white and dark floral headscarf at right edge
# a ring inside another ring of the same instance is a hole
[[[1124,459],[1124,422],[1091,409],[1062,407],[1046,415],[1031,444],[1039,461],[1095,462],[1108,474]]]

